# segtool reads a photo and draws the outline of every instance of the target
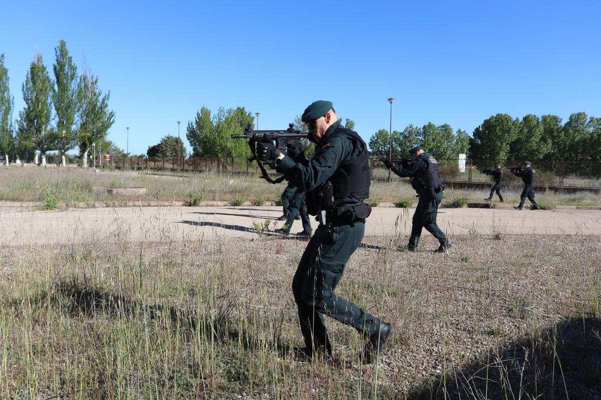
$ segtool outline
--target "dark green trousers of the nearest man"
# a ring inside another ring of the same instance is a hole
[[[364,232],[364,223],[332,227],[331,230],[319,225],[301,257],[292,280],[292,291],[305,345],[313,351],[331,353],[332,350],[324,315],[369,335],[380,327],[379,318],[334,293]]]

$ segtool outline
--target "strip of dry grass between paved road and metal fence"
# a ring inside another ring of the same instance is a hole
[[[0,200],[5,201],[105,201],[118,204],[120,201],[156,200],[189,201],[201,198],[204,201],[246,200],[254,203],[279,201],[285,182],[267,184],[252,175],[227,175],[219,173],[168,173],[120,172],[102,170],[94,173],[81,168],[1,167]],[[141,187],[147,193],[142,197],[113,196],[106,192],[108,187]],[[503,193],[505,202],[519,203],[521,188]],[[445,190],[443,203],[462,199],[482,203],[489,190]],[[392,182],[374,181],[370,188],[370,203],[396,203],[400,198],[415,199],[415,191],[406,180],[394,178]],[[590,192],[555,193],[547,191],[537,194],[537,202],[543,208],[566,204],[576,206],[601,206],[601,196]]]

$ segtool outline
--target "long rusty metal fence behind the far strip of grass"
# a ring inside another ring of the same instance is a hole
[[[184,172],[215,171],[219,173],[259,174],[257,163],[246,158],[220,157],[104,157],[97,160],[98,166],[110,166],[117,169],[133,170],[170,170]],[[505,172],[505,185],[522,185],[522,180],[510,172],[511,167],[523,167],[525,160],[465,160],[460,167],[459,159],[438,160],[441,176],[446,184],[469,186],[490,185],[491,178],[480,173],[492,170],[495,164],[501,164]],[[599,160],[529,160],[536,171],[536,183],[539,188],[601,190],[601,161]],[[389,179],[389,170],[377,158],[370,158],[371,178]],[[269,170],[269,173],[276,174]],[[396,179],[394,173],[391,179]]]

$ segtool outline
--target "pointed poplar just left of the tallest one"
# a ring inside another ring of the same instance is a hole
[[[25,109],[19,112],[20,154],[31,159],[35,150],[40,151],[41,164],[46,165],[46,152],[54,149],[52,122],[52,80],[40,53],[35,59],[23,83]]]

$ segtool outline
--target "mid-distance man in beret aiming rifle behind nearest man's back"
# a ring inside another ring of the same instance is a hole
[[[413,224],[409,245],[401,248],[407,251],[417,251],[419,237],[422,228],[432,233],[440,246],[436,252],[447,252],[451,247],[451,242],[447,239],[441,228],[436,225],[436,215],[438,215],[438,205],[442,201],[442,191],[444,185],[441,185],[441,173],[438,170],[438,161],[429,154],[424,153],[421,146],[416,146],[409,151],[412,163],[406,163],[403,168],[394,165],[388,158],[383,159],[385,166],[392,170],[401,178],[409,178],[411,186],[419,196],[415,213],[413,213]]]

